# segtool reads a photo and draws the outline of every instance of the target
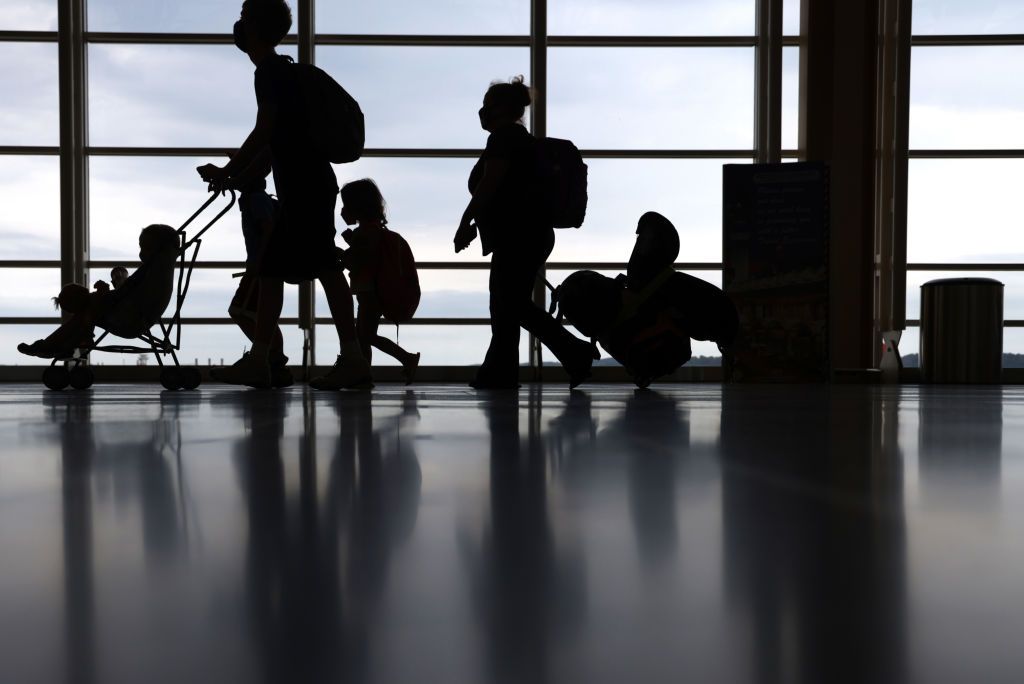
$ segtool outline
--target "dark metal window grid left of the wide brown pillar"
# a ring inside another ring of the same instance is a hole
[[[222,147],[117,147],[88,144],[88,70],[86,48],[89,44],[134,43],[210,45],[231,44],[229,34],[202,33],[137,33],[90,32],[86,26],[86,0],[58,0],[57,31],[0,31],[3,42],[43,42],[58,45],[60,145],[0,145],[0,156],[58,156],[60,157],[60,259],[59,260],[0,260],[4,268],[59,268],[62,282],[86,283],[88,269],[104,267],[110,261],[91,260],[88,254],[88,176],[87,160],[90,157],[173,157],[219,156]],[[465,35],[356,35],[316,34],[314,0],[295,0],[296,30],[286,38],[286,44],[298,45],[301,61],[314,61],[317,45],[374,45],[374,46],[518,46],[529,49],[530,83],[541,93],[547,86],[547,49],[549,47],[609,47],[609,48],[723,48],[749,47],[756,55],[756,92],[753,125],[753,149],[587,149],[590,159],[736,159],[751,161],[777,161],[795,158],[797,151],[780,149],[781,139],[781,48],[798,46],[799,38],[782,36],[781,0],[755,0],[757,7],[756,31],[752,36],[549,36],[547,33],[547,0],[530,0],[530,34],[527,36],[465,36]],[[547,111],[543,97],[531,108],[531,127],[544,135]],[[475,158],[479,149],[472,148],[375,148],[367,157],[380,158]],[[203,261],[199,268],[238,269],[242,262]],[[425,269],[482,270],[486,262],[423,262]],[[720,263],[695,262],[676,264],[687,270],[721,270]],[[577,268],[622,269],[624,263],[614,262],[549,262],[547,269]],[[536,292],[543,301],[544,290]],[[54,316],[0,316],[0,325],[51,324]],[[224,317],[184,318],[185,324],[232,325]],[[283,318],[283,324],[305,326],[312,335],[315,325],[330,323],[317,317],[313,310],[312,287],[300,290],[300,315]],[[418,318],[414,325],[486,325],[487,318]],[[315,345],[314,339],[310,341]],[[530,344],[530,365],[539,369],[543,364],[541,348],[536,341]]]

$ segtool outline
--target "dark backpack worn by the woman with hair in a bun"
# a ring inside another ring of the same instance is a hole
[[[538,140],[538,182],[545,212],[556,228],[579,228],[587,216],[587,165],[569,140]]]

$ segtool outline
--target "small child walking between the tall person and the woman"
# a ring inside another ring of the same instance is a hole
[[[364,178],[345,183],[341,188],[341,217],[355,229],[345,230],[349,248],[344,251],[342,262],[349,269],[352,293],[359,303],[355,316],[355,331],[359,347],[367,360],[372,360],[373,347],[392,356],[401,364],[401,374],[407,384],[413,382],[420,365],[420,354],[402,349],[396,342],[377,334],[381,320],[381,303],[377,293],[378,264],[382,258],[381,234],[387,230],[387,211],[384,197],[377,183]]]

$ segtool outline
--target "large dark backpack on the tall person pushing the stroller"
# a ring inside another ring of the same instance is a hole
[[[323,69],[304,63],[293,68],[305,99],[313,143],[335,164],[359,159],[367,137],[359,103]]]

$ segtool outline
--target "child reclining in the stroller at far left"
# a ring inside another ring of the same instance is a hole
[[[180,240],[171,226],[155,223],[142,228],[138,247],[142,264],[124,281],[120,272],[114,274],[123,267],[115,268],[114,290],[103,281],[92,292],[81,285],[66,285],[53,301],[71,316],[45,339],[23,342],[17,350],[40,358],[71,358],[79,347],[89,346],[94,326],[129,339],[148,331],[173,294]]]

